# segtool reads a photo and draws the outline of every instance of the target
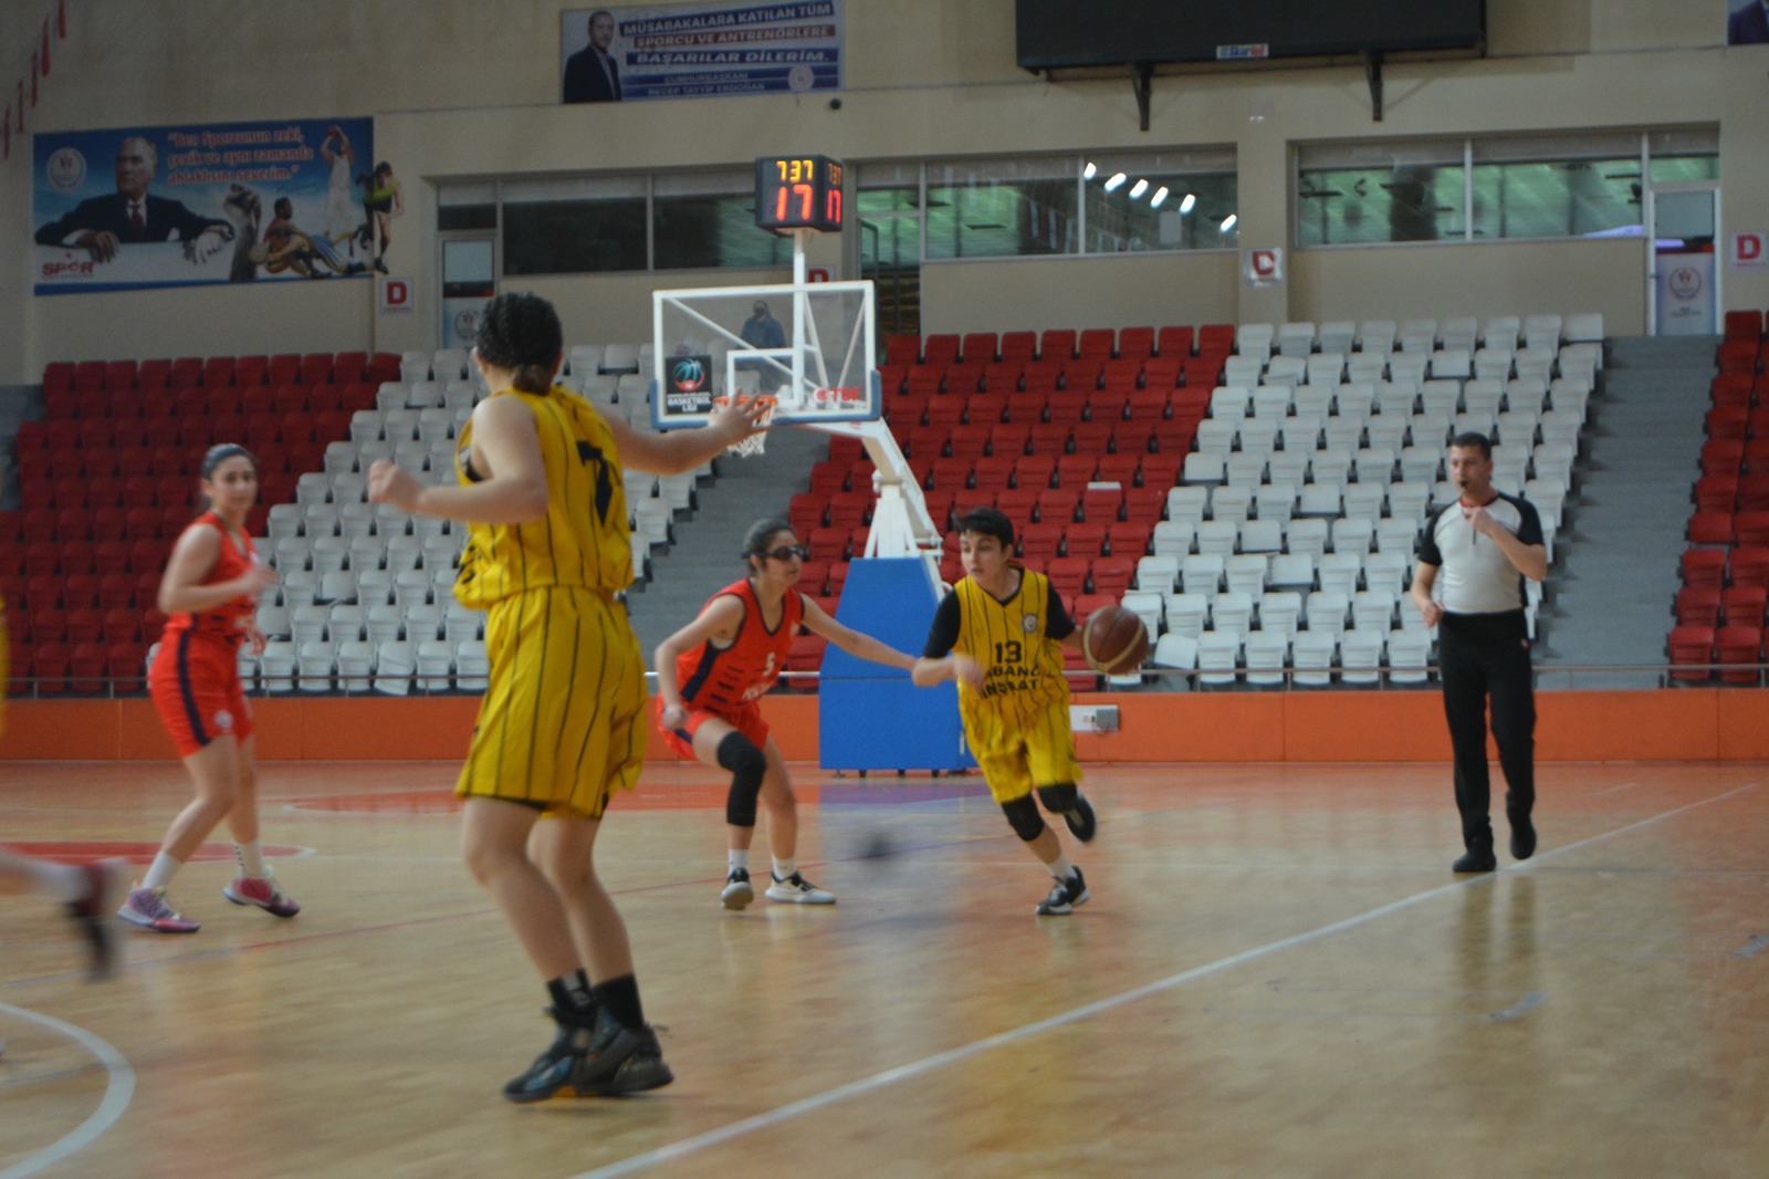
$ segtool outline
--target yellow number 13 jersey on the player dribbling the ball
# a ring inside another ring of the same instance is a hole
[[[959,641],[953,650],[982,664],[985,674],[982,692],[959,685],[959,710],[971,745],[994,744],[1003,729],[1042,728],[1053,705],[1061,705],[1067,722],[1063,650],[1045,634],[1051,581],[1019,561],[1012,565],[1019,568],[1021,581],[1019,591],[1007,602],[998,602],[969,577],[952,588],[959,595]]]

